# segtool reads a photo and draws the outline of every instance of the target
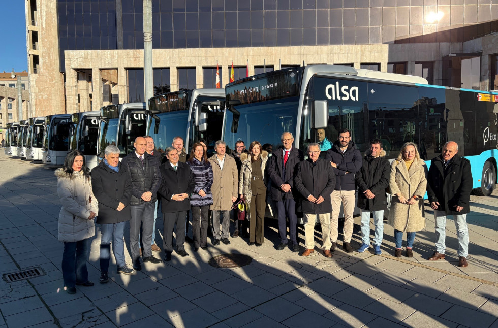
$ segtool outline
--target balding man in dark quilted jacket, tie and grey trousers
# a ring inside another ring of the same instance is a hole
[[[133,190],[131,198],[132,219],[130,220],[130,255],[133,269],[139,271],[140,251],[138,235],[142,226],[143,261],[161,263],[161,260],[152,256],[151,242],[154,226],[154,206],[156,193],[161,180],[155,157],[145,152],[147,142],[143,137],[137,137],[133,144],[135,151],[123,158],[122,164],[130,174]]]

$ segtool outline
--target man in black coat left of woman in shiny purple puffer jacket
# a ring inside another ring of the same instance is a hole
[[[161,173],[161,211],[163,212],[163,248],[165,261],[171,260],[173,253],[173,228],[176,224],[177,254],[189,256],[183,246],[185,242],[186,212],[190,210],[190,195],[194,191],[195,179],[188,165],[179,161],[178,151],[169,147],[166,149],[167,162],[159,167]]]

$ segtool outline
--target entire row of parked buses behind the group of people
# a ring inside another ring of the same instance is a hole
[[[308,65],[243,78],[225,89],[160,94],[148,100],[148,111],[145,103],[131,103],[11,123],[5,151],[60,165],[68,151],[78,149],[93,167],[108,145],[124,157],[143,135],[154,139],[160,153],[175,136],[183,138],[186,151],[203,139],[212,153],[220,139],[227,152],[238,140],[276,149],[282,132],[290,131],[305,151],[320,141],[318,130],[333,143],[338,130],[348,128],[362,152],[377,138],[393,159],[404,143],[415,142],[427,165],[445,142],[455,141],[458,153],[471,161],[475,191],[489,195],[498,162],[497,102],[498,94],[428,85],[415,76]]]

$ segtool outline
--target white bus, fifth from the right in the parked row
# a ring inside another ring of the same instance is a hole
[[[43,133],[44,164],[63,165],[68,154],[69,128],[71,127],[71,114],[49,115],[45,118],[45,131]]]

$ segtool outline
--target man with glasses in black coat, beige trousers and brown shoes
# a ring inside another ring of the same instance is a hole
[[[294,188],[301,195],[301,211],[304,213],[304,243],[301,256],[309,256],[315,250],[315,220],[322,225],[322,250],[325,257],[332,257],[330,246],[330,194],[335,186],[335,173],[329,162],[320,159],[320,145],[308,145],[308,159],[299,162],[294,178]]]

